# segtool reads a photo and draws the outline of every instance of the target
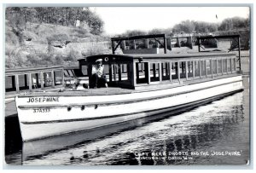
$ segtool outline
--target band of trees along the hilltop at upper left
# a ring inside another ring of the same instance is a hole
[[[9,7],[6,9],[6,20],[17,30],[29,29],[27,24],[48,23],[61,26],[79,26],[86,23],[90,32],[100,35],[104,22],[89,8],[82,7]]]

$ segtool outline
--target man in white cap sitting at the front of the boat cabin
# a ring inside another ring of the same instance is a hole
[[[92,87],[93,88],[100,88],[102,86],[105,86],[108,88],[107,79],[105,78],[105,75],[103,74],[104,71],[104,65],[102,65],[102,59],[96,60],[96,66],[92,66]]]

